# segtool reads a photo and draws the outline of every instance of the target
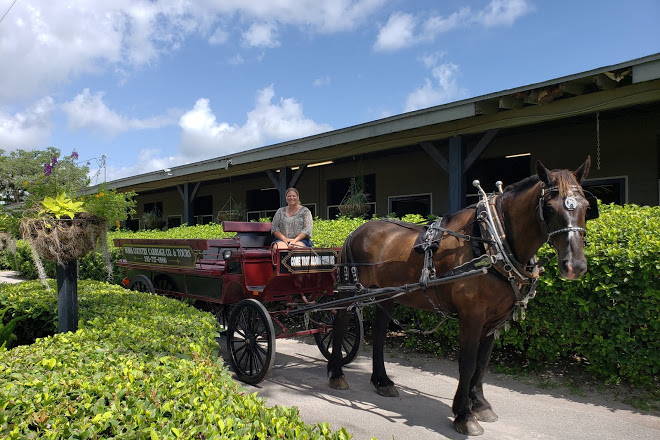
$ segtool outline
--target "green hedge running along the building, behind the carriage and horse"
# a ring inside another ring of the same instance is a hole
[[[578,359],[608,382],[656,384],[660,375],[660,207],[601,205],[600,209],[600,218],[587,225],[588,273],[578,281],[566,281],[558,275],[556,259],[550,261],[539,282],[537,296],[529,303],[527,319],[512,323],[511,330],[501,335],[497,346],[537,363]],[[405,220],[423,219],[410,216]],[[346,236],[365,221],[316,219],[314,244],[341,246]],[[227,235],[231,234],[222,232],[220,225],[205,225],[164,232],[113,232],[109,239]],[[539,255],[549,252],[544,246]],[[87,262],[88,259],[91,261]],[[85,269],[81,269],[80,277],[93,272],[101,277],[97,279],[103,279],[99,261],[98,255],[82,259],[81,268]],[[22,264],[29,266],[28,262]],[[120,277],[121,274],[115,276]],[[365,310],[367,320],[370,313],[369,309]],[[397,319],[425,330],[435,328],[438,323],[438,317],[432,313],[403,307],[394,313]],[[407,341],[442,353],[455,350],[457,336],[457,323],[449,320],[432,338],[410,333]]]

